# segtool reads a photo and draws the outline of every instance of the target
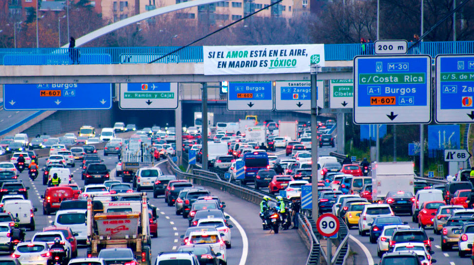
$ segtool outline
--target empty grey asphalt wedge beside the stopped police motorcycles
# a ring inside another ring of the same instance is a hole
[[[165,174],[169,173],[166,164],[160,165]],[[237,220],[245,229],[248,239],[248,257],[245,264],[305,264],[309,251],[299,237],[297,230],[280,230],[278,234],[262,229],[262,220],[259,217],[258,205],[244,201],[239,197],[218,189],[208,188],[211,194],[219,196],[226,203],[225,212]],[[164,200],[163,200],[164,204]],[[174,214],[174,208],[173,214]],[[160,217],[161,218],[161,217]],[[234,225],[234,224],[233,224]],[[241,239],[235,241],[236,226],[232,229],[232,249],[234,244],[242,244]],[[240,245],[242,246],[242,245]],[[238,246],[240,248],[240,246]],[[241,248],[240,248],[241,249]],[[228,250],[229,251],[229,250]],[[239,250],[240,251],[240,250]],[[229,258],[231,256],[229,255]],[[238,264],[238,260],[235,263]]]

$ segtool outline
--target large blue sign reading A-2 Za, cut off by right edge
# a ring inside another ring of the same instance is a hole
[[[436,122],[474,121],[474,55],[436,57]]]

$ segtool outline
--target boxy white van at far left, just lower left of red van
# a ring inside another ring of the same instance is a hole
[[[18,224],[35,230],[35,217],[33,212],[37,211],[30,200],[9,200],[3,204],[3,212],[9,212],[14,218],[18,218]]]

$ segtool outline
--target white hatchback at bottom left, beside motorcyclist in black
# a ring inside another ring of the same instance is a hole
[[[21,265],[48,265],[51,261],[48,243],[18,243],[12,258],[17,258]]]

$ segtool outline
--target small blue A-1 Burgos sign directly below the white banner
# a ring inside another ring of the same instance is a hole
[[[273,110],[272,82],[229,82],[227,110]]]

